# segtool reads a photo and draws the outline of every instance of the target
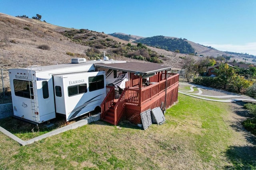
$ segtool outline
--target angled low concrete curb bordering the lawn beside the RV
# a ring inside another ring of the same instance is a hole
[[[66,126],[64,126],[64,127],[61,127],[61,128],[59,128],[59,129],[56,129],[56,130],[54,130],[54,131],[50,131],[50,132],[48,132],[48,133],[45,133],[44,135],[35,137],[35,138],[30,139],[30,140],[28,140],[28,141],[23,141],[22,139],[16,137],[15,135],[13,135],[12,133],[10,133],[9,131],[7,131],[6,129],[4,129],[4,128],[2,128],[2,127],[0,127],[0,131],[1,131],[2,133],[4,133],[6,136],[12,138],[14,141],[17,141],[18,143],[20,143],[20,145],[26,146],[26,145],[32,144],[32,143],[34,143],[34,142],[36,142],[36,141],[40,141],[40,140],[42,140],[42,139],[44,139],[44,138],[46,138],[46,137],[51,137],[51,136],[53,136],[53,135],[57,135],[57,134],[59,134],[59,133],[65,132],[65,131],[68,131],[68,130],[71,130],[71,129],[76,129],[76,128],[78,128],[78,127],[84,126],[84,125],[86,125],[86,124],[88,124],[88,123],[91,123],[91,122],[93,122],[93,121],[98,121],[98,120],[100,120],[100,114],[101,114],[101,113],[98,113],[98,114],[96,114],[96,115],[92,115],[92,116],[90,116],[90,117],[86,117],[85,119],[82,119],[82,120],[77,121],[77,122],[75,122],[75,123],[72,123],[72,124],[70,124],[70,125],[66,125]]]

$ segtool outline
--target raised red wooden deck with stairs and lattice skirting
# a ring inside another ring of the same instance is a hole
[[[141,76],[130,77],[117,102],[114,102],[114,87],[107,86],[108,94],[101,104],[102,120],[113,125],[121,119],[138,124],[142,111],[159,107],[162,102],[168,108],[178,101],[179,74],[158,72],[149,78],[152,82],[149,86],[142,84]]]

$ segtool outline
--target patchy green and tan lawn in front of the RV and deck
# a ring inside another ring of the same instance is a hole
[[[236,145],[228,114],[226,103],[179,94],[166,123],[146,131],[98,121],[25,147],[0,133],[0,169],[253,168],[255,149]]]

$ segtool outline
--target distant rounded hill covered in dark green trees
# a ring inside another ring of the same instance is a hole
[[[153,46],[168,51],[179,50],[182,54],[195,53],[195,49],[192,48],[190,43],[186,39],[182,38],[165,38],[162,35],[138,39],[135,42],[143,43],[149,46]]]

